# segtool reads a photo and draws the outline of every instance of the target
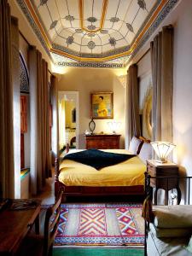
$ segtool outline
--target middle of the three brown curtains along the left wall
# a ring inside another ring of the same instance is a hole
[[[48,65],[35,47],[29,48],[31,109],[31,191],[36,195],[50,177]]]

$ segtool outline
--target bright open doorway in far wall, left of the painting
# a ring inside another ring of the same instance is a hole
[[[59,148],[79,148],[79,92],[59,91]]]

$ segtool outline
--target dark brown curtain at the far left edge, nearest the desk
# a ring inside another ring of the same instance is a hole
[[[11,69],[11,16],[6,0],[0,2],[0,197],[14,197],[14,117]]]

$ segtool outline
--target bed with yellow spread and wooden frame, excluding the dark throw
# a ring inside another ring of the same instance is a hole
[[[70,153],[79,150],[70,150]],[[125,149],[102,149],[105,152],[131,154]],[[97,171],[73,160],[55,160],[55,195],[64,189],[67,196],[144,195],[146,165],[138,156]]]

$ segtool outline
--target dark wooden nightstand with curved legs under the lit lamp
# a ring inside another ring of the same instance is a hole
[[[158,163],[155,160],[147,160],[147,172],[151,177],[150,185],[154,188],[154,205],[157,205],[158,189],[165,190],[165,205],[168,205],[168,192],[177,189],[177,204],[181,201],[181,190],[179,189],[178,166],[172,162]],[[166,178],[175,177],[175,178]]]

